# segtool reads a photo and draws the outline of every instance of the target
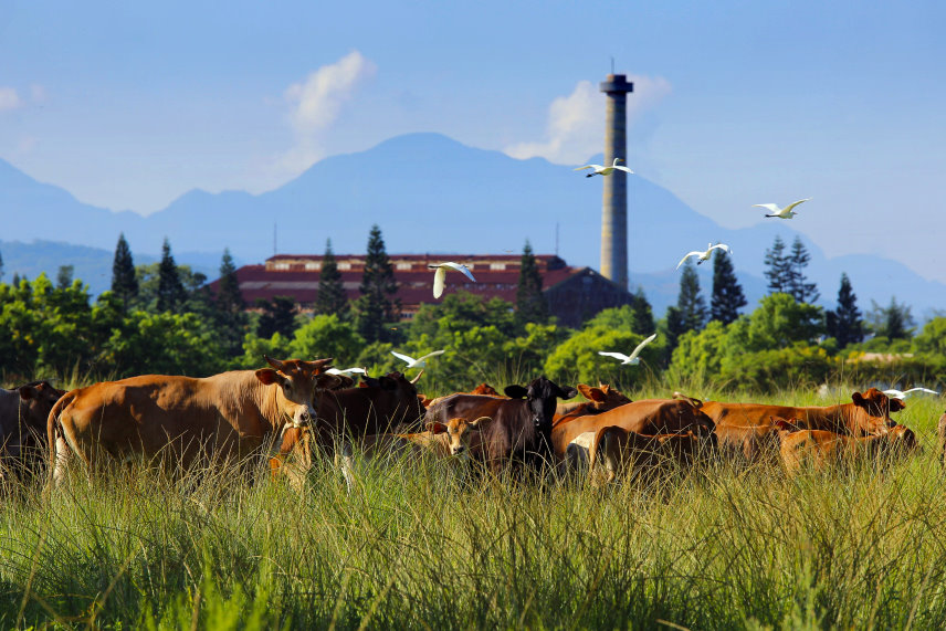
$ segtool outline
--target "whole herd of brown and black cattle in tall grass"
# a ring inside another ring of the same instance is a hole
[[[266,361],[259,370],[146,375],[69,392],[46,381],[0,389],[0,474],[34,474],[45,462],[55,484],[70,460],[90,471],[135,460],[182,471],[269,458],[278,476],[288,459],[315,450],[335,456],[349,490],[356,463],[379,455],[454,459],[517,475],[551,465],[598,486],[707,460],[781,462],[795,474],[919,449],[891,418],[904,402],[875,388],[849,403],[790,407],[679,392],[632,401],[608,386],[539,377],[503,395],[483,385],[431,400],[418,393],[421,375],[356,383],[330,370],[330,359]],[[571,401],[579,392],[586,401]],[[942,456],[946,414],[938,433]]]

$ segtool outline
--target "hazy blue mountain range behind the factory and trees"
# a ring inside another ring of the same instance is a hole
[[[788,245],[797,234],[790,222],[763,219],[761,211],[754,227],[719,227],[639,176],[629,177],[628,198],[631,284],[643,286],[658,316],[676,301],[680,272],[674,267],[680,257],[710,242],[733,249],[751,308],[765,294],[766,249],[776,234]],[[756,201],[747,200],[747,209]],[[274,228],[280,253],[320,254],[326,239],[336,253],[361,253],[374,223],[380,225],[389,253],[519,253],[527,239],[537,253],[553,253],[558,234],[558,253],[569,264],[597,269],[600,217],[599,178],[585,178],[542,158],[516,160],[466,147],[439,134],[399,136],[367,151],[326,158],[257,196],[192,190],[148,217],[84,204],[0,160],[4,280],[13,272],[33,277],[44,270],[54,275],[59,265],[76,264],[76,276],[94,293],[108,287],[119,232],[136,263],[155,260],[167,236],[178,263],[211,278],[224,248],[241,264],[272,255]],[[791,221],[803,221],[803,214]],[[35,240],[40,242],[32,243]],[[842,272],[851,277],[862,311],[870,309],[871,299],[886,304],[892,295],[921,317],[944,306],[946,285],[902,263],[869,253],[827,259],[813,243],[802,241],[811,254],[809,280],[818,283],[826,306],[834,306]],[[90,248],[99,249],[98,254]],[[97,267],[96,256],[102,260]],[[702,265],[707,302],[711,277],[712,265]]]

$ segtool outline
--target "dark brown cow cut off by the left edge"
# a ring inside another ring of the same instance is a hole
[[[49,381],[0,388],[0,477],[4,470],[32,471],[42,461],[46,419],[63,395]]]

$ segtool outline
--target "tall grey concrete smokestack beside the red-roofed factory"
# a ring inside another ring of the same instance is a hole
[[[614,158],[627,159],[628,102],[634,84],[623,74],[609,74],[599,90],[608,95],[608,122],[605,127],[605,166]],[[624,164],[623,166],[627,166]],[[628,175],[613,171],[601,178],[605,197],[601,204],[601,275],[628,288]]]

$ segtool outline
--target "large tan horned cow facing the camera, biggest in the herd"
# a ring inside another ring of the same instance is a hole
[[[272,368],[202,379],[145,375],[67,392],[46,424],[51,478],[69,452],[86,465],[111,454],[123,461],[161,455],[189,467],[202,456],[244,456],[284,427],[312,422],[313,397],[338,383],[325,374],[330,359],[266,361]]]

